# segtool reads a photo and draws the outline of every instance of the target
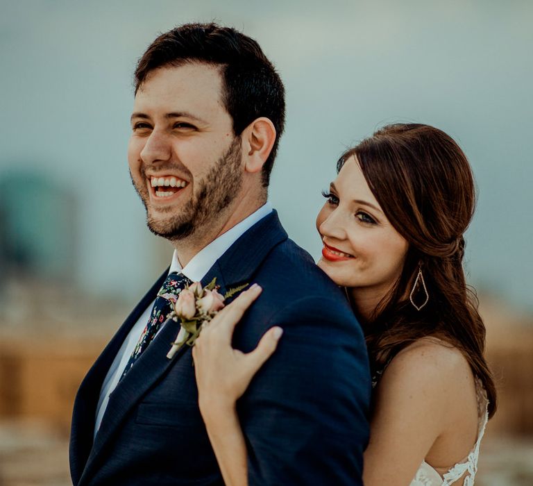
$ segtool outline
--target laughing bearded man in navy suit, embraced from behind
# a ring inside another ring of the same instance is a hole
[[[182,283],[216,277],[222,294],[262,286],[237,326],[236,348],[251,351],[272,326],[285,330],[239,400],[248,483],[362,484],[370,393],[362,331],[267,202],[284,119],[278,74],[257,43],[232,28],[174,28],[139,60],[130,175],[150,230],[175,250],[81,384],[74,485],[223,484],[198,410],[191,349],[169,360],[177,324],[151,327],[172,272]]]

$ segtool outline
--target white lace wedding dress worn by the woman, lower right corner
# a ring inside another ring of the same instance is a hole
[[[481,439],[483,438],[485,426],[487,426],[487,421],[489,420],[489,401],[487,400],[487,394],[480,380],[476,379],[475,385],[477,390],[479,427],[477,430],[477,440],[470,453],[468,453],[464,460],[450,467],[448,471],[441,471],[440,473],[427,462],[422,462],[409,486],[449,486],[462,478],[464,478],[463,486],[473,486],[475,473],[477,472],[477,458],[480,455]]]

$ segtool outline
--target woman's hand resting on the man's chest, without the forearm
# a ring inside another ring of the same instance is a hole
[[[210,418],[230,412],[235,402],[248,388],[251,379],[276,351],[282,335],[280,327],[264,333],[250,353],[232,349],[231,339],[237,322],[260,295],[262,288],[254,284],[239,294],[205,324],[192,349],[194,373],[198,385],[198,403],[206,423]]]

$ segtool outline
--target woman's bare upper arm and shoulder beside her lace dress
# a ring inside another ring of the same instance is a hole
[[[472,384],[468,363],[455,348],[421,340],[401,351],[375,390],[364,485],[409,485],[434,449],[441,466],[464,457],[457,442],[450,447],[441,441],[457,428],[468,430],[471,419],[477,430],[476,414],[469,414],[475,408]],[[464,453],[475,442],[469,440]]]

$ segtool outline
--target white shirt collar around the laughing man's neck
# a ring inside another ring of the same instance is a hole
[[[185,267],[181,266],[180,261],[178,260],[178,253],[174,250],[169,273],[172,273],[173,271],[178,273],[181,272],[193,282],[199,282],[205,274],[208,273],[209,269],[214,265],[214,262],[216,262],[242,234],[271,212],[271,203],[265,203],[250,216],[244,218],[238,224],[226,231],[226,233],[223,233],[210,242],[208,246],[204,246],[203,249],[194,255]]]

